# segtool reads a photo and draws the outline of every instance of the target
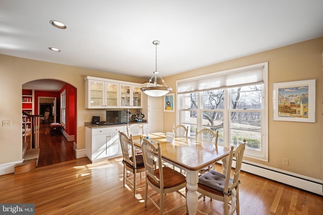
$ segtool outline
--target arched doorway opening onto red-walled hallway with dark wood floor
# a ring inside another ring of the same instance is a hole
[[[77,89],[69,83],[50,79],[25,83],[22,85],[22,89],[32,92],[32,113],[34,115],[43,115],[43,109],[51,108],[49,120],[39,123],[40,155],[38,167],[76,159],[73,149],[77,136]],[[65,93],[66,110],[64,117],[66,117],[66,120],[64,121],[62,135],[51,135],[49,124],[51,122],[61,123],[62,121],[61,94],[63,92]]]

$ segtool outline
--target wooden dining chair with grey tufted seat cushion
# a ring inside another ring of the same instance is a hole
[[[239,145],[234,151],[234,147],[231,147],[231,151],[228,158],[228,166],[226,169],[226,175],[219,173],[215,170],[205,172],[198,178],[197,192],[204,196],[208,196],[211,199],[224,202],[224,214],[233,214],[235,211],[239,214],[239,184],[240,184],[240,170],[242,165],[243,153],[246,146],[246,140],[243,144]],[[233,158],[236,160],[236,166],[231,178],[231,168]],[[201,196],[199,196],[200,198]],[[231,201],[231,203],[230,203]],[[229,212],[230,204],[230,212]],[[201,212],[201,211],[199,211]],[[201,212],[202,214],[206,214]]]

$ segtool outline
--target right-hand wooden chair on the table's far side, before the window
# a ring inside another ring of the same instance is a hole
[[[201,142],[206,142],[207,144],[214,144],[214,146],[218,146],[218,136],[219,136],[219,131],[217,130],[216,132],[214,132],[213,130],[209,129],[209,128],[203,128],[199,131],[196,130],[196,135],[195,135],[195,139],[197,141],[201,141]],[[209,165],[206,168],[203,168],[199,171],[199,173],[204,173],[205,171],[209,171],[212,167],[214,166],[214,164]]]

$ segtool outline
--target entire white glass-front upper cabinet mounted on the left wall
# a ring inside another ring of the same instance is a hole
[[[141,84],[85,77],[85,108],[141,108]]]

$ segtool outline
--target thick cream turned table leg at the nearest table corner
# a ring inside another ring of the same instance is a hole
[[[198,203],[198,171],[186,170],[186,204],[189,214],[196,214],[197,203]]]

